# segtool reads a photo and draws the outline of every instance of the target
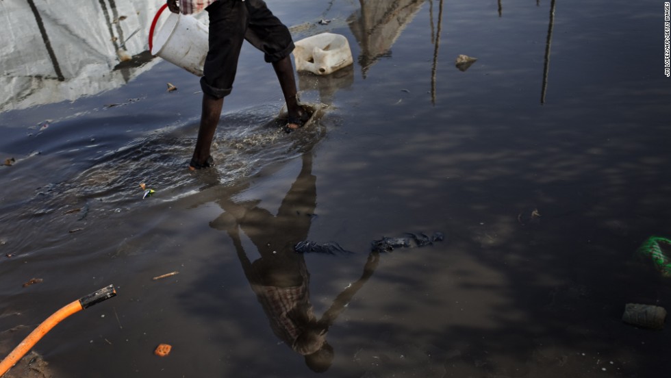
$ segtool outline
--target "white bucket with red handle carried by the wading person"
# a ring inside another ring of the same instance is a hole
[[[193,16],[185,14],[170,15],[158,31],[156,41],[153,41],[156,22],[164,9],[164,4],[151,21],[149,29],[149,51],[151,55],[158,55],[168,62],[184,68],[194,75],[203,76],[203,64],[209,45],[207,42],[207,27]]]

